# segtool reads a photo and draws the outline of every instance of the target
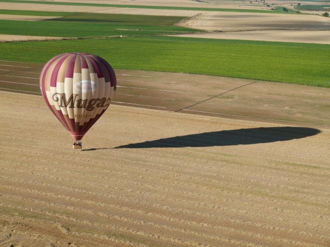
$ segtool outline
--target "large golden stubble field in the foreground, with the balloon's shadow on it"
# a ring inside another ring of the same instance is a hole
[[[0,104],[4,246],[330,244],[329,129],[111,106],[77,151],[40,96]]]

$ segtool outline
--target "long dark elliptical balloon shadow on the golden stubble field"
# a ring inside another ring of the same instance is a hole
[[[132,143],[115,148],[183,148],[250,145],[289,141],[313,136],[318,133],[320,133],[318,129],[305,127],[266,127],[222,130]]]

